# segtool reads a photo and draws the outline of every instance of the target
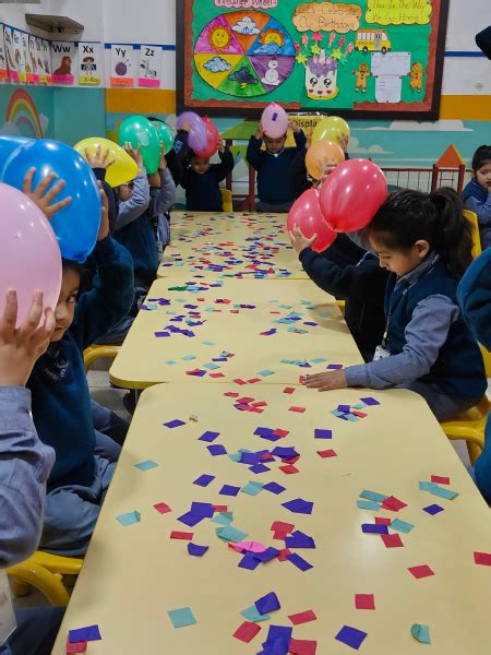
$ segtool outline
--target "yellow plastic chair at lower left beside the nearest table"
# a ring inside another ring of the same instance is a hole
[[[63,584],[63,575],[79,575],[83,560],[36,551],[29,559],[10,567],[12,591],[16,596],[27,596],[35,587],[51,603],[67,606],[70,595]]]

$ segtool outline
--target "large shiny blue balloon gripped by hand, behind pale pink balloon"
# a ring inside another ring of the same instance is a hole
[[[69,145],[38,139],[10,155],[3,167],[2,180],[22,190],[24,176],[33,166],[36,168],[33,189],[51,172],[67,182],[56,200],[71,195],[72,202],[55,214],[50,224],[61,257],[83,263],[94,250],[100,225],[100,193],[91,167]]]

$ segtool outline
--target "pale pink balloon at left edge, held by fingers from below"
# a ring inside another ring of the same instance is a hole
[[[55,309],[61,288],[61,255],[55,233],[37,205],[17,189],[0,182],[0,315],[5,293],[17,293],[17,326],[36,289],[44,307]]]

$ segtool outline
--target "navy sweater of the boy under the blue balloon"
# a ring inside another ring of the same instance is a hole
[[[130,253],[106,237],[93,257],[97,284],[80,297],[72,325],[37,360],[27,382],[39,439],[56,452],[48,489],[93,481],[95,432],[83,350],[127,315],[133,301]]]

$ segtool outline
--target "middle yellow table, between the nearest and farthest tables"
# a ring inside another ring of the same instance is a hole
[[[110,368],[117,386],[295,384],[330,365],[362,361],[335,299],[311,281],[172,277],[156,281],[147,298],[154,301],[144,303]]]

